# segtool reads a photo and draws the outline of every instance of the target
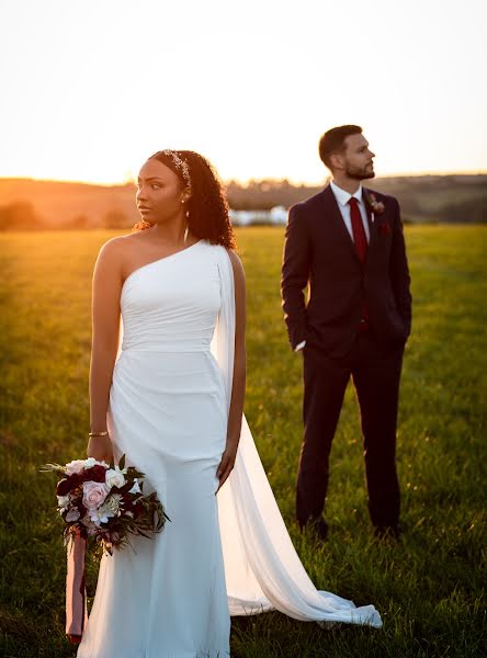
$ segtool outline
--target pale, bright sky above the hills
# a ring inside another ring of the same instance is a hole
[[[359,124],[378,175],[487,171],[485,0],[3,0],[0,177],[118,183],[192,149],[318,183]]]

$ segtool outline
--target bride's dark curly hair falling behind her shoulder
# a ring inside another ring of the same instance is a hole
[[[228,215],[228,202],[224,186],[216,170],[211,162],[200,154],[189,150],[172,151],[186,162],[191,180],[191,197],[188,201],[188,225],[196,238],[208,240],[212,245],[222,245],[227,249],[236,248],[234,229]],[[186,186],[183,173],[174,163],[170,154],[157,151],[149,160],[158,160],[169,167],[171,171]],[[139,222],[134,226],[136,230],[144,230],[154,226],[149,222]]]

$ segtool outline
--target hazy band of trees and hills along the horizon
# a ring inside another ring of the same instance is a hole
[[[442,222],[478,224],[487,223],[487,177],[485,175],[428,175],[380,178],[367,181],[371,188],[397,196],[403,218],[406,223]],[[121,188],[123,191],[123,188]],[[295,203],[316,194],[321,186],[296,185],[288,180],[250,180],[242,184],[229,181],[226,184],[228,202],[234,211],[270,211],[276,206],[288,208]],[[118,194],[118,192],[116,192]],[[91,192],[93,195],[93,193]],[[53,198],[55,195],[53,195]],[[7,205],[0,205],[0,230],[42,230],[42,229],[88,229],[114,228],[129,229],[136,217],[132,190],[129,196],[118,194],[114,207],[106,208],[106,195],[103,202],[81,204],[79,194],[73,202],[72,215],[59,216],[52,213],[49,220],[38,214],[32,196]],[[76,204],[78,203],[78,212]],[[55,203],[53,202],[53,207]],[[69,208],[69,203],[64,207]],[[89,207],[89,212],[80,212]],[[43,212],[49,212],[44,205]],[[98,213],[98,208],[101,212]]]

